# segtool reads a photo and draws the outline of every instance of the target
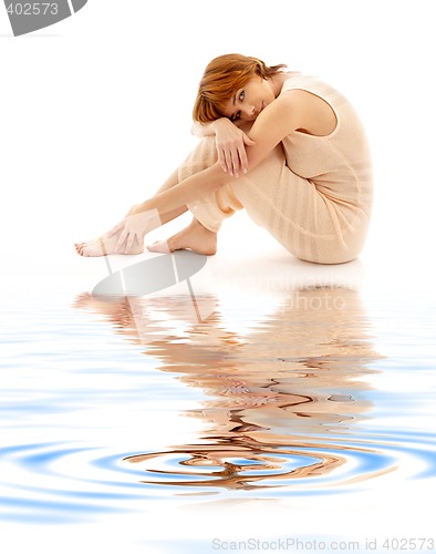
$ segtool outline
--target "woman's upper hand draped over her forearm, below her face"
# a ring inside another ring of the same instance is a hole
[[[235,123],[227,117],[214,122],[218,162],[222,170],[230,175],[239,177],[240,172],[247,173],[248,160],[246,146],[256,143]]]

